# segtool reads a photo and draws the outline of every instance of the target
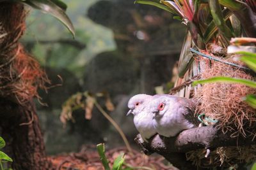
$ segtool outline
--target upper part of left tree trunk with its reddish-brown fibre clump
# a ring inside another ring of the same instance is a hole
[[[40,64],[19,44],[26,28],[24,6],[5,4],[0,6],[0,15],[0,97],[26,104],[34,96],[40,98],[38,87],[46,90],[45,83],[50,81]]]

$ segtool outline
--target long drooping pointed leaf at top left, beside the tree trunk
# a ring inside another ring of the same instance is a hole
[[[16,0],[20,1],[20,0]],[[49,13],[53,17],[56,17],[58,20],[60,20],[67,29],[72,33],[72,35],[75,37],[75,29],[72,25],[72,22],[68,18],[68,16],[65,13],[65,6],[63,4],[60,4],[61,1],[54,0],[54,2],[50,0],[25,0],[20,1],[24,4],[28,4],[29,6],[44,11],[45,13]],[[58,4],[55,4],[58,3]]]

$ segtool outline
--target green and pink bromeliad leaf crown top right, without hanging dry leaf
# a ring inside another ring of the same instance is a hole
[[[251,1],[233,0],[209,0],[209,1],[188,1],[188,0],[136,0],[134,3],[151,4],[182,18],[183,23],[188,27],[196,46],[205,48],[205,43],[218,39],[223,45],[228,46],[230,38],[235,36],[237,24],[232,25],[230,16],[234,14],[246,32],[247,36],[256,37],[255,13],[246,3]],[[166,7],[169,8],[166,9]],[[211,11],[211,15],[208,13]],[[224,10],[221,10],[224,9]],[[175,17],[177,18],[177,17]],[[206,29],[205,29],[206,27]],[[236,36],[241,36],[237,35]]]

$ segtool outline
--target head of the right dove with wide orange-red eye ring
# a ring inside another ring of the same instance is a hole
[[[150,113],[152,118],[161,118],[164,113],[168,110],[170,99],[166,96],[155,97],[150,103]]]

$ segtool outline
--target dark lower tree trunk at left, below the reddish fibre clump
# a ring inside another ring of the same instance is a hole
[[[0,99],[0,125],[13,169],[51,169],[33,101],[26,107]],[[6,114],[8,113],[8,114]]]

